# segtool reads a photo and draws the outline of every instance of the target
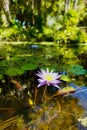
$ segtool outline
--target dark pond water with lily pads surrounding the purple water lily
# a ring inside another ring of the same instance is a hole
[[[47,42],[1,44],[0,130],[86,130],[86,51],[83,45]],[[55,96],[58,90],[51,88],[41,102],[43,87],[36,96],[40,68],[68,74],[76,91]]]

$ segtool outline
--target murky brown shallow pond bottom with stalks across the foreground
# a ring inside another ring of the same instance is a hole
[[[16,100],[13,103],[17,105]],[[59,96],[31,108],[3,108],[0,130],[85,130],[79,121],[84,114],[77,98]]]

